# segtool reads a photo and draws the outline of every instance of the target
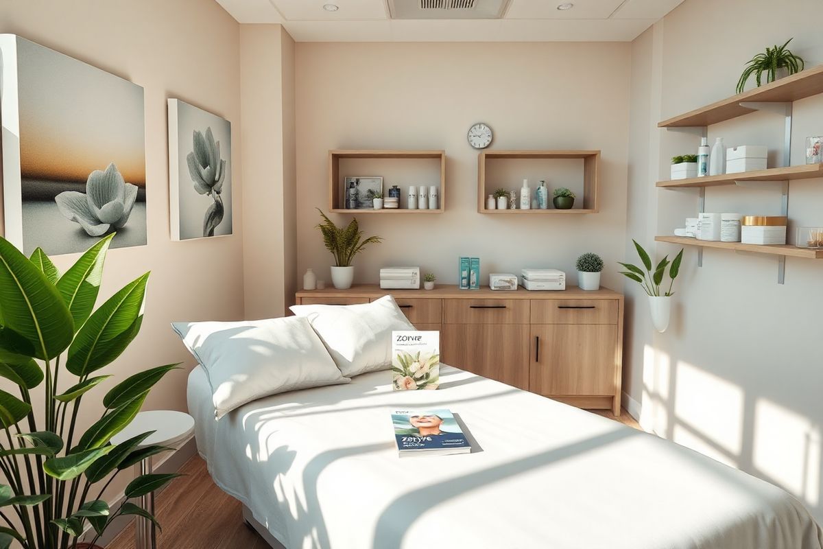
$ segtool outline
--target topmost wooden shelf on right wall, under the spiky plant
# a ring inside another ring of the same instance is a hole
[[[709,126],[756,111],[741,103],[770,102],[789,103],[823,93],[823,65],[797,72],[750,91],[732,95],[727,99],[706,105],[700,109],[680,114],[658,123],[658,128],[687,128]]]

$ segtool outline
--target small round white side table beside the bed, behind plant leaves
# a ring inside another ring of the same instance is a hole
[[[134,416],[132,422],[125,429],[111,438],[111,443],[120,444],[150,430],[155,432],[138,444],[136,449],[160,444],[160,446],[168,446],[176,450],[191,438],[194,432],[194,418],[185,412],[175,412],[174,410],[140,412],[137,416]],[[134,466],[135,477],[147,475],[150,472],[151,457]],[[154,493],[143,495],[140,499],[140,506],[153,515]],[[157,541],[154,523],[149,519],[137,517],[134,524],[136,549],[156,549]]]

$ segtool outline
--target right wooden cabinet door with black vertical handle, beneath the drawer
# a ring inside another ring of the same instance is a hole
[[[532,393],[565,396],[615,393],[616,325],[533,325],[529,347]]]

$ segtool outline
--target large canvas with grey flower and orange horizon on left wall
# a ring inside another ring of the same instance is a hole
[[[16,35],[0,35],[6,238],[30,254],[146,244],[143,89]]]

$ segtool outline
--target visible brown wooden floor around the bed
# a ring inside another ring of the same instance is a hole
[[[615,417],[605,410],[593,412],[639,429],[625,411]],[[163,526],[157,534],[159,549],[267,549],[263,539],[242,518],[240,503],[215,486],[206,463],[195,456],[180,470],[186,475],[171,482],[156,501],[156,516]],[[108,549],[133,549],[134,522],[129,524]]]

